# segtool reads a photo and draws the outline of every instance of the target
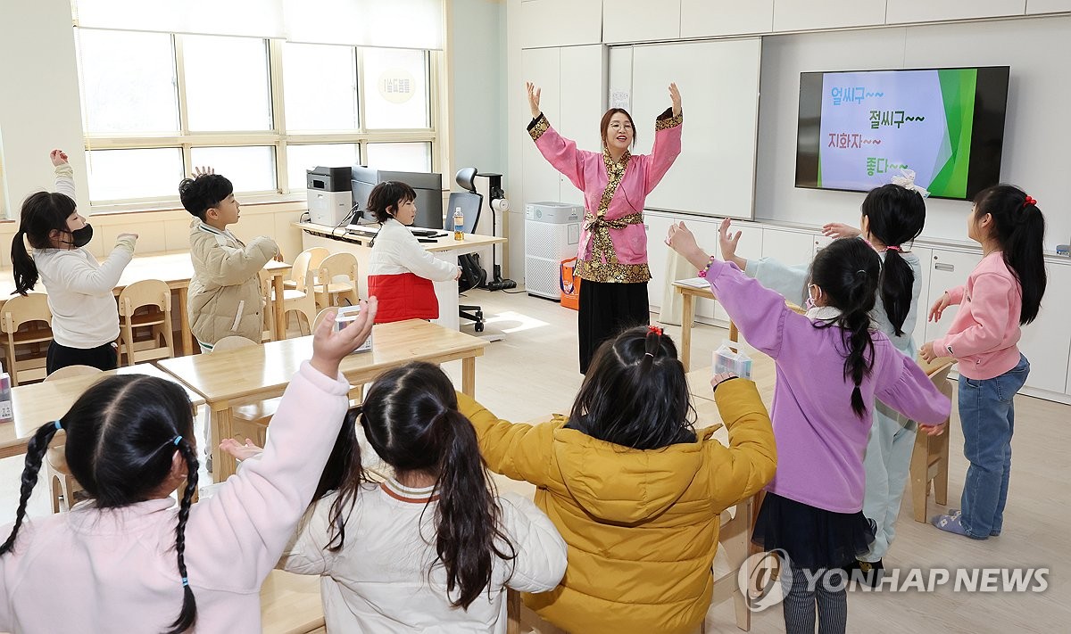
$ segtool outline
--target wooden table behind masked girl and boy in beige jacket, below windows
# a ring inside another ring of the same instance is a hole
[[[275,297],[283,297],[283,276],[290,271],[290,265],[271,260],[265,267],[272,272],[272,286],[275,288]],[[179,296],[179,319],[182,323],[182,353],[193,354],[198,350],[194,349],[193,334],[190,332],[190,315],[186,311],[186,291],[190,288],[190,280],[194,276],[194,265],[190,259],[188,251],[162,253],[155,255],[136,255],[131,263],[123,269],[119,276],[119,284],[116,285],[115,293],[119,296],[130,284],[142,280],[162,280],[167,283],[168,288],[178,292]],[[0,307],[4,301],[11,297],[15,290],[15,278],[10,268],[0,270]],[[47,289],[40,284],[37,290],[47,292]],[[286,332],[286,321],[283,314],[282,302],[275,302],[275,332]]]

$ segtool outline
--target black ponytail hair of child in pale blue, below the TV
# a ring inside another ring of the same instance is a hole
[[[869,220],[871,235],[888,247],[878,288],[889,323],[896,336],[902,336],[911,310],[915,272],[901,255],[901,248],[922,232],[926,205],[918,192],[887,184],[866,194],[862,213]]]

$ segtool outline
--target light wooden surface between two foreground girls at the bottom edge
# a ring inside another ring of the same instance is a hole
[[[271,571],[260,586],[260,625],[265,634],[327,632],[320,577]]]

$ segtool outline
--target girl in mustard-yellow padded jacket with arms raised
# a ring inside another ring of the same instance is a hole
[[[487,466],[537,486],[570,546],[550,592],[524,595],[569,632],[690,633],[710,606],[721,513],[773,476],[770,418],[755,384],[712,381],[729,447],[696,429],[684,367],[657,327],[595,352],[569,418],[499,420],[458,394]]]

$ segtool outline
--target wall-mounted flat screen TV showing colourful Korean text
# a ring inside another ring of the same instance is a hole
[[[1000,181],[1008,66],[800,74],[796,186],[866,192],[915,171],[938,198]]]

